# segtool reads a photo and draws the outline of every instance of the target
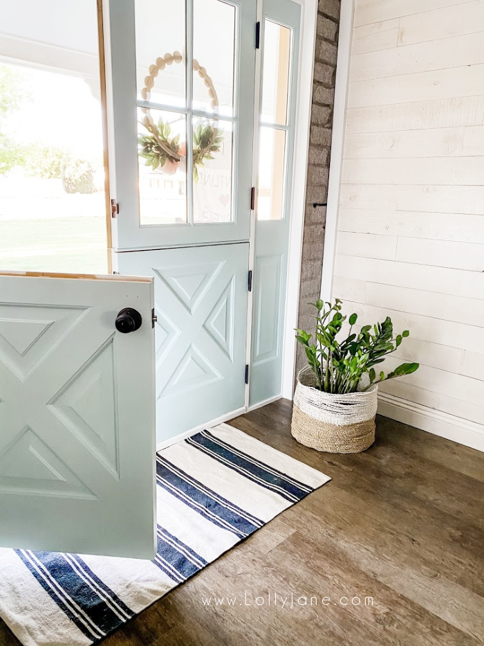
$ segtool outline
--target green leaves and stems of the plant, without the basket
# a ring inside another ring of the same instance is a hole
[[[367,390],[372,384],[411,375],[418,369],[418,364],[415,363],[402,364],[387,374],[381,370],[377,378],[373,366],[381,364],[386,355],[395,352],[402,340],[409,336],[409,331],[404,330],[402,334],[393,337],[393,323],[389,316],[382,323],[363,325],[356,334],[352,329],[357,322],[357,314],[344,316],[339,298],[333,304],[318,299],[310,305],[317,309],[315,330],[312,333],[296,330],[296,339],[304,346],[319,390],[326,393],[354,393],[365,374],[369,379],[369,385],[364,388]],[[336,337],[346,318],[350,325],[349,334],[340,341]]]

